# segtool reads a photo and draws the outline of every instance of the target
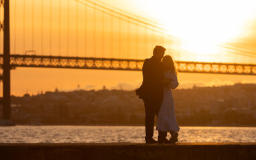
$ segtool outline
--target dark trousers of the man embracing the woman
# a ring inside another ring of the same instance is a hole
[[[146,132],[146,139],[150,139],[153,137],[153,126],[154,126],[154,119],[155,115],[158,114],[157,106],[161,106],[161,102],[155,102],[155,101],[146,101],[144,100],[144,106],[145,106],[145,132]],[[159,137],[166,137],[167,132],[158,131]]]

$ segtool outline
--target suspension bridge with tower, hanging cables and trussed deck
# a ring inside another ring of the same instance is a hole
[[[10,119],[10,70],[15,67],[141,71],[143,59],[162,45],[179,72],[256,75],[253,49],[221,43],[207,46],[209,53],[191,51],[184,47],[188,41],[163,25],[101,1],[0,3],[3,119]]]

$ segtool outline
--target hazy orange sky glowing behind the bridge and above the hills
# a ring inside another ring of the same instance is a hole
[[[33,50],[38,55],[145,59],[151,57],[155,45],[164,45],[176,60],[256,63],[256,59],[233,58],[212,48],[216,43],[233,43],[256,49],[256,1],[102,2],[161,23],[178,40],[129,25],[75,0],[16,0],[11,1],[11,53]],[[256,83],[255,77],[246,75],[179,73],[178,80],[180,88]],[[17,68],[11,71],[11,94],[36,94],[56,87],[68,91],[78,85],[80,89],[101,89],[103,85],[135,89],[141,81],[139,71]]]

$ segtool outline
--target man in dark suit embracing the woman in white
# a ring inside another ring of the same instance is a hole
[[[164,85],[169,81],[164,79],[164,68],[162,58],[166,49],[162,46],[155,46],[153,56],[145,59],[142,67],[143,83],[136,94],[143,99],[145,106],[145,141],[146,143],[157,143],[153,139],[153,126],[155,115],[158,115],[159,109],[164,98]],[[158,142],[169,143],[166,139],[166,132],[158,131]]]

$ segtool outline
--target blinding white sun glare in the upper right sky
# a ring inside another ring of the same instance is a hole
[[[238,37],[256,17],[256,1],[148,0],[144,6],[172,35],[186,41],[182,49],[198,55],[218,52],[213,44]]]

